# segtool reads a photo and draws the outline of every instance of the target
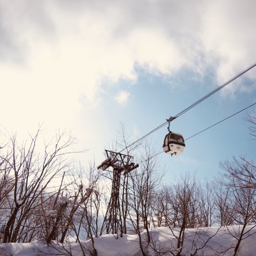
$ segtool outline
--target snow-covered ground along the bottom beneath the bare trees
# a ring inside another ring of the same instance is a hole
[[[254,256],[256,255],[256,228],[246,227],[246,235],[241,241],[236,256]],[[234,255],[234,248],[237,244],[242,227],[211,227],[188,229],[185,233],[182,253],[180,255]],[[168,227],[154,228],[150,230],[152,242],[143,243],[145,255],[177,255],[177,236],[178,228]],[[176,237],[175,237],[176,236]],[[143,241],[146,239],[146,233],[141,234]],[[84,248],[82,253],[81,246]],[[38,256],[38,255],[90,255],[90,241],[82,244],[71,243],[61,244],[52,243],[52,246],[46,246],[43,241],[33,241],[32,243],[9,243],[0,244],[0,255],[4,256]],[[55,249],[54,249],[55,248]],[[95,248],[98,256],[137,256],[142,255],[140,243],[136,235],[124,235],[116,239],[113,235],[101,236],[95,239]],[[172,253],[171,253],[172,252]]]

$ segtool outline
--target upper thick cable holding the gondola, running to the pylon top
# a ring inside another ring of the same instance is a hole
[[[175,116],[172,116],[171,118],[169,118],[168,120],[166,120],[166,122],[164,122],[163,124],[157,126],[155,129],[153,129],[152,131],[148,132],[147,134],[145,134],[144,136],[142,136],[141,138],[139,138],[138,140],[134,141],[133,143],[131,143],[130,145],[128,145],[127,147],[125,147],[124,149],[122,149],[120,152],[124,151],[126,148],[130,148],[133,145],[137,144],[138,142],[140,142],[141,140],[144,140],[145,138],[147,138],[147,136],[149,136],[150,134],[156,132],[157,130],[161,129],[162,127],[164,127],[166,124],[170,123],[171,121],[175,120],[176,118],[178,118],[179,116],[183,115],[184,113],[186,113],[187,111],[189,111],[190,109],[194,108],[196,105],[198,105],[199,103],[201,103],[202,101],[204,101],[205,99],[209,98],[211,95],[213,95],[214,93],[218,92],[219,90],[223,89],[225,86],[227,86],[228,84],[232,83],[233,81],[235,81],[238,77],[243,76],[243,74],[245,74],[246,72],[248,72],[249,70],[251,70],[252,68],[254,68],[256,66],[256,63],[254,63],[253,65],[251,65],[250,67],[246,68],[245,70],[243,70],[242,72],[240,72],[239,74],[237,74],[236,76],[232,77],[230,80],[228,80],[226,83],[222,84],[221,86],[219,86],[218,88],[216,88],[215,90],[213,90],[212,92],[209,92],[207,95],[205,95],[204,97],[202,97],[201,99],[197,100],[196,102],[194,102],[193,104],[191,104],[190,106],[188,106],[188,108],[185,108],[184,110],[180,111],[180,113],[178,113]]]

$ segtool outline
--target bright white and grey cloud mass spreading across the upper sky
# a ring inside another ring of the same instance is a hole
[[[255,3],[0,0],[1,122],[72,129],[90,117],[93,127],[102,81],[135,83],[136,66],[159,76],[213,67],[223,83],[256,60]]]

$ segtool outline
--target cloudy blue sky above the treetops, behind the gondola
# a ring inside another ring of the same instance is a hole
[[[71,131],[104,161],[123,125],[141,138],[256,62],[253,0],[0,0],[1,132],[38,124]],[[256,68],[171,124],[184,139],[256,102]],[[159,154],[166,182],[180,173],[210,179],[220,161],[255,159],[246,115]],[[122,124],[122,125],[121,125]],[[147,138],[161,151],[167,127]]]

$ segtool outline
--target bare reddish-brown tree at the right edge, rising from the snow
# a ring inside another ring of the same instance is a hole
[[[256,232],[256,166],[244,157],[240,157],[239,160],[234,158],[232,163],[228,161],[222,163],[221,167],[226,172],[226,186],[232,194],[233,202],[229,207],[235,210],[235,223],[241,225],[239,234],[230,231],[230,234],[237,239],[234,248],[234,256],[236,256],[241,241]]]

